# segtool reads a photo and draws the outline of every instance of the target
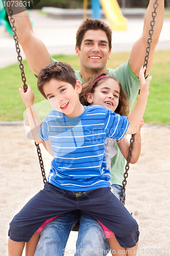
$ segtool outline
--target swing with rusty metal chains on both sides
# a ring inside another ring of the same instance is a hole
[[[17,59],[19,61],[19,69],[20,69],[20,72],[21,72],[21,79],[22,79],[22,82],[23,82],[23,89],[27,92],[27,84],[26,84],[26,76],[25,76],[25,72],[23,71],[23,64],[22,64],[22,57],[20,55],[20,48],[19,48],[19,43],[18,43],[18,36],[16,34],[16,27],[14,26],[14,23],[15,23],[15,19],[13,17],[13,11],[12,11],[12,7],[11,7],[11,0],[7,0],[7,3],[8,3],[8,10],[9,10],[9,15],[10,15],[10,22],[12,24],[12,31],[14,33],[14,41],[15,41],[15,47],[16,47],[16,52],[18,54],[17,56]],[[149,54],[150,54],[150,49],[151,49],[151,42],[152,42],[152,35],[154,33],[154,29],[153,27],[155,26],[155,17],[157,16],[157,12],[156,12],[156,9],[158,8],[158,0],[155,0],[154,2],[154,11],[152,12],[152,20],[151,20],[151,28],[149,30],[149,38],[148,38],[148,45],[147,45],[147,48],[146,48],[146,52],[145,52],[145,57],[144,57],[144,64],[143,64],[143,67],[146,67],[146,70],[145,70],[145,73],[144,73],[144,76],[146,74],[146,71],[147,71],[147,66],[148,66],[148,60],[149,60]],[[139,90],[139,93],[140,93],[140,90]],[[123,180],[123,187],[122,187],[122,195],[120,196],[120,198],[122,198],[120,200],[120,202],[122,204],[124,204],[125,202],[125,196],[124,196],[124,193],[125,193],[125,190],[126,190],[126,184],[127,184],[127,178],[128,178],[128,170],[129,170],[129,164],[130,164],[130,160],[131,160],[131,156],[132,156],[132,150],[133,150],[133,143],[134,143],[134,134],[132,134],[131,136],[131,139],[130,139],[130,146],[129,146],[129,151],[128,151],[128,157],[127,157],[127,164],[125,166],[125,174],[124,174],[124,180]],[[42,156],[41,156],[41,151],[40,151],[40,147],[39,147],[39,144],[35,142],[35,146],[37,148],[37,154],[38,154],[38,159],[39,159],[39,163],[40,163],[40,168],[41,168],[41,174],[42,174],[42,178],[43,178],[43,183],[45,184],[45,182],[47,181],[46,180],[46,177],[45,177],[45,170],[44,170],[44,166],[43,166],[43,161],[42,161]],[[73,231],[78,231],[79,230],[79,225],[80,223],[78,222],[75,227],[72,229]]]

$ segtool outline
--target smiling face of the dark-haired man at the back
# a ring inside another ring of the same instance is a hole
[[[80,57],[80,67],[84,71],[98,69],[106,72],[110,53],[108,38],[103,30],[86,31],[80,50],[76,47],[76,56]]]

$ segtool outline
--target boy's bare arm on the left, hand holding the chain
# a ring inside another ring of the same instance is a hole
[[[26,104],[32,136],[35,142],[42,143],[44,141],[38,135],[38,130],[42,124],[34,108],[34,98],[35,98],[34,93],[31,90],[30,86],[28,86],[26,93],[24,90],[19,88],[19,93],[23,102]]]

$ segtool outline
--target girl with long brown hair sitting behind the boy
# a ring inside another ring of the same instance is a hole
[[[130,105],[125,92],[122,89],[120,82],[113,76],[107,76],[106,74],[96,75],[83,84],[82,92],[80,94],[80,101],[83,105],[102,105],[105,108],[114,111],[122,116],[128,116],[130,112]],[[29,125],[28,117],[25,120],[26,125]],[[140,129],[143,126],[143,120],[141,121],[138,132],[135,134],[135,142],[133,144],[133,151],[131,157],[131,163],[136,163],[140,155]],[[115,139],[107,138],[105,140],[105,151],[107,158],[107,168],[110,170],[110,158],[116,154],[116,150],[113,147]],[[125,159],[128,156],[129,141],[126,136],[122,140],[118,141],[118,146]],[[48,151],[49,152],[49,151]],[[114,195],[120,199],[122,186],[112,184]],[[54,217],[55,218],[55,217]],[[53,219],[54,219],[53,218]],[[44,224],[47,224],[51,220],[47,220]],[[100,223],[102,225],[102,223]],[[43,225],[44,226],[44,225]],[[112,254],[118,253],[119,255],[126,255],[123,248],[119,245],[114,237],[114,233],[102,225],[106,238],[108,238],[109,246]],[[34,255],[34,251],[39,239],[39,233],[43,227],[40,227],[33,235],[32,239],[26,244],[26,255]],[[121,252],[121,253],[120,253]],[[132,255],[133,253],[131,253]]]

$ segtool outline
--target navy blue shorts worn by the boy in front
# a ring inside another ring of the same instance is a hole
[[[111,187],[77,192],[63,190],[48,182],[13,218],[9,237],[16,242],[28,242],[47,219],[75,209],[85,211],[109,228],[122,247],[136,245],[138,225],[114,196]]]

